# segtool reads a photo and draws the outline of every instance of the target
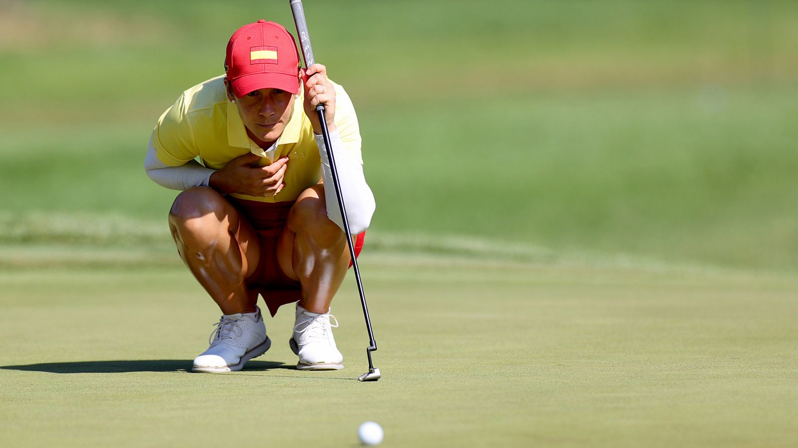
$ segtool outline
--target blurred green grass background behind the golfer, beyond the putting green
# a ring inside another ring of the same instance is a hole
[[[798,268],[798,2],[307,3],[373,250]],[[276,1],[0,2],[2,263],[179,263],[145,145],[258,18],[293,29]]]

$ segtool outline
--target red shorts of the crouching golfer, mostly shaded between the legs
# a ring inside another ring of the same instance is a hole
[[[255,229],[260,240],[260,261],[255,274],[247,278],[247,287],[263,296],[271,316],[275,316],[282,305],[302,299],[302,285],[292,280],[280,269],[277,261],[277,240],[286,225],[288,212],[294,202],[259,202],[226,197],[239,213]],[[354,255],[363,249],[365,231],[358,234],[354,244]],[[352,262],[350,262],[350,267]]]

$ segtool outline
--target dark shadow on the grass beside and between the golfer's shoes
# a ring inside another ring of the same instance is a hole
[[[125,373],[133,371],[191,371],[190,360],[137,360],[137,361],[81,361],[77,363],[27,364],[24,366],[0,366],[2,369],[23,371],[47,371],[50,373]],[[274,361],[249,361],[244,371],[270,370],[275,368],[295,370],[294,365]]]

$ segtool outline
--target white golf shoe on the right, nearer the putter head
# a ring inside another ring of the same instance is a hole
[[[330,324],[330,318],[335,324]],[[338,370],[344,368],[344,357],[335,347],[333,327],[338,327],[338,320],[330,314],[330,310],[319,314],[310,312],[297,305],[294,336],[288,344],[299,356],[298,369],[302,370]]]

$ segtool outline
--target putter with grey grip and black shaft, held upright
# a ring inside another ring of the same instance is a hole
[[[310,47],[310,36],[307,33],[307,22],[305,20],[305,10],[302,9],[302,0],[289,0],[291,5],[291,12],[294,14],[294,24],[297,26],[297,34],[299,37],[300,48],[302,48],[302,59],[305,60],[305,68],[314,65],[315,60],[313,57],[313,49]],[[335,194],[338,195],[338,207],[341,209],[341,218],[344,223],[344,233],[346,234],[346,241],[349,242],[350,255],[352,256],[352,268],[354,269],[354,278],[358,282],[358,293],[360,293],[360,304],[363,306],[363,316],[365,316],[365,328],[369,330],[369,348],[365,349],[365,354],[369,356],[369,371],[358,377],[360,381],[377,381],[380,379],[380,369],[374,368],[371,362],[371,352],[377,350],[377,342],[374,341],[374,333],[371,330],[371,320],[369,319],[369,307],[365,305],[365,294],[363,293],[363,285],[360,281],[360,270],[358,269],[358,258],[354,254],[354,245],[352,244],[352,234],[350,233],[349,221],[346,219],[346,207],[341,195],[341,187],[338,182],[338,171],[335,169],[335,159],[333,157],[332,145],[330,144],[330,132],[327,131],[327,120],[324,116],[324,104],[316,106],[316,113],[318,113],[318,121],[322,124],[322,136],[324,138],[324,146],[327,151],[327,159],[330,159],[330,173],[333,175],[333,184],[335,187]]]

